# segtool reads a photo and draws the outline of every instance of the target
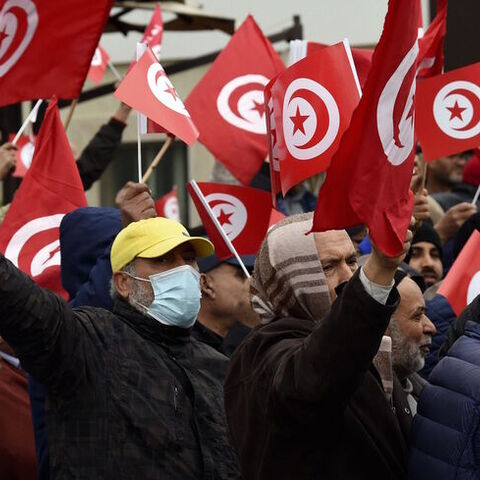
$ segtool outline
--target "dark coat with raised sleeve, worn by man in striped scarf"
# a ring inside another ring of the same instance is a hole
[[[410,411],[394,377],[390,404],[372,365],[391,314],[358,274],[319,324],[257,327],[230,361],[227,420],[246,480],[404,479]]]

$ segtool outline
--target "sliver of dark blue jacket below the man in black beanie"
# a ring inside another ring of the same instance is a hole
[[[427,317],[437,329],[437,333],[432,338],[430,353],[425,359],[425,366],[419,372],[423,378],[428,380],[430,372],[438,363],[438,352],[445,342],[445,336],[448,329],[457,317],[443,295],[435,295],[432,300],[427,302]]]

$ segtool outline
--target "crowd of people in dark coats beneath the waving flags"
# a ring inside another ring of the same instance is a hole
[[[80,154],[85,189],[128,113]],[[5,143],[0,179],[14,167]],[[396,257],[364,226],[306,234],[301,184],[241,256],[251,279],[145,184],[65,215],[69,302],[0,255],[0,478],[479,478],[480,298],[457,318],[437,293],[479,184],[477,150],[419,152]]]

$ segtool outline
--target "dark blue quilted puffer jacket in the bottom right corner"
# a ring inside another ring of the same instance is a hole
[[[476,321],[464,324],[420,396],[409,480],[480,479],[480,297],[475,302],[464,313],[476,309]]]

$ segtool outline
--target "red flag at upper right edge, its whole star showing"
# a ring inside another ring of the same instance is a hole
[[[418,84],[417,132],[425,160],[480,145],[480,63]]]

